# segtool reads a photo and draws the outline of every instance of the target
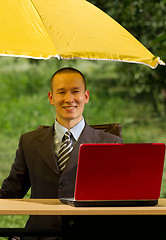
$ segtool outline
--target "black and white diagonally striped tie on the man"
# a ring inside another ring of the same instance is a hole
[[[58,165],[60,172],[62,172],[62,170],[66,167],[67,160],[73,150],[71,135],[70,131],[64,134],[63,142],[58,153]]]

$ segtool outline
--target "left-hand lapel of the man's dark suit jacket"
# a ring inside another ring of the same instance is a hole
[[[57,165],[57,156],[54,151],[54,130],[53,126],[45,129],[43,135],[39,138],[38,152],[49,167],[58,175],[60,175]]]

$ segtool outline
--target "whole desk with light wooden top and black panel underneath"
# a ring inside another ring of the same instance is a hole
[[[62,236],[62,239],[164,239],[166,199],[153,207],[72,207],[57,199],[0,199],[0,215],[61,215],[62,231],[0,229],[0,236]],[[88,237],[87,237],[88,236]],[[82,237],[82,238],[81,238]],[[111,239],[111,238],[110,238]]]

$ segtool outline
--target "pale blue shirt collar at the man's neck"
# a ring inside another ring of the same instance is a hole
[[[74,139],[77,141],[82,130],[85,127],[85,120],[84,118],[77,123],[73,128],[70,129],[70,132],[72,133]],[[59,124],[56,120],[55,120],[55,132],[56,132],[56,136],[57,138],[62,141],[62,138],[65,134],[65,132],[67,132],[68,129],[63,127],[61,124]]]

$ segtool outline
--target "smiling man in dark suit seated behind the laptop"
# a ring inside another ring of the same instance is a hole
[[[14,164],[0,189],[0,198],[23,198],[30,187],[31,198],[73,197],[80,144],[122,142],[121,138],[94,130],[85,122],[82,114],[89,102],[89,91],[78,70],[58,70],[51,78],[48,97],[55,106],[55,124],[21,136]],[[64,139],[65,133],[70,135],[69,140]],[[66,141],[70,147],[63,146]],[[61,218],[30,216],[26,228],[58,230]]]

